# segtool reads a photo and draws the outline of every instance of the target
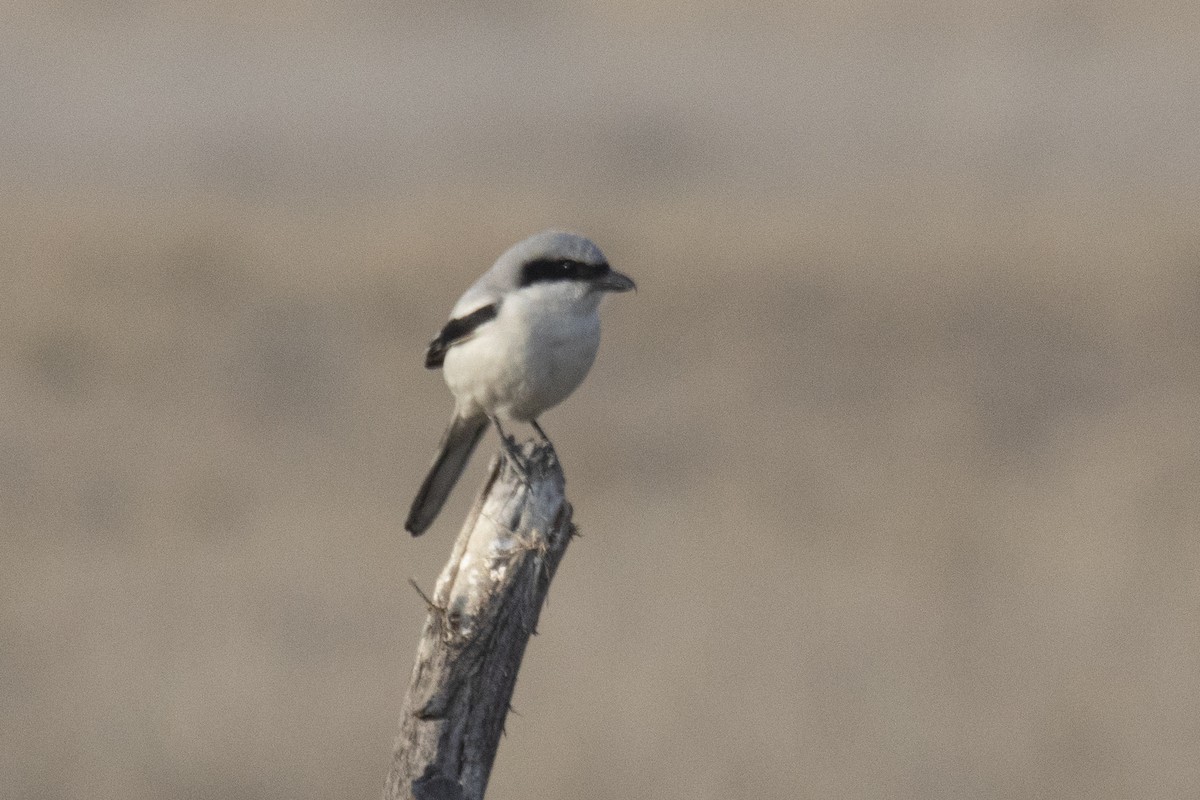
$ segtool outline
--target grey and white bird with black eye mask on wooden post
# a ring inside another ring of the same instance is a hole
[[[550,443],[538,417],[592,368],[600,301],[636,288],[592,240],[545,230],[504,251],[463,293],[425,351],[426,368],[442,369],[455,408],[406,530],[419,536],[433,524],[488,423],[515,461],[516,441],[500,416],[530,423]]]

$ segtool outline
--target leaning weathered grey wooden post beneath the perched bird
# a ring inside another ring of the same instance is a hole
[[[385,800],[484,798],[526,643],[575,534],[553,449],[523,453],[520,471],[492,459],[426,599]]]

